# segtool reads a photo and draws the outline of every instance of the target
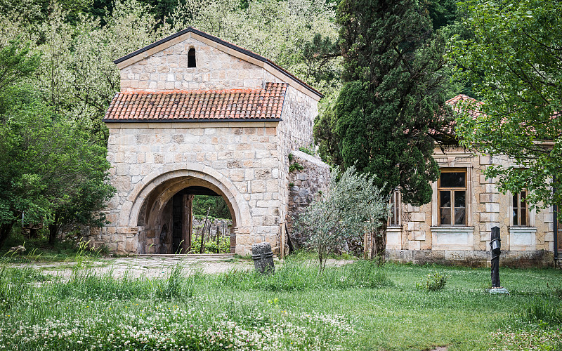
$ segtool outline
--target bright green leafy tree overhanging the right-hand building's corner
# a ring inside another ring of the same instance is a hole
[[[474,35],[449,57],[484,102],[457,119],[462,143],[509,157],[485,169],[500,190],[527,189],[532,206],[562,204],[562,3],[469,0],[462,11]]]

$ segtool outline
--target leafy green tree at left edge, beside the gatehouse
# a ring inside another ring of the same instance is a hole
[[[18,84],[38,60],[18,43],[0,48],[0,67],[13,72],[0,81],[0,246],[22,216],[48,224],[51,243],[60,225],[101,225],[99,211],[115,191],[105,148]]]

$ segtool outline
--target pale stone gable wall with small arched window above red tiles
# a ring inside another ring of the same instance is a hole
[[[263,88],[265,82],[281,82],[263,67],[229,55],[190,34],[185,37],[122,68],[121,91]],[[195,68],[188,68],[190,48],[195,48]]]

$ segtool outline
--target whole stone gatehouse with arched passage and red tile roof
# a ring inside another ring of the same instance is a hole
[[[260,241],[279,250],[290,216],[289,153],[313,143],[322,94],[192,27],[115,64],[121,91],[103,121],[117,194],[110,225],[91,235],[94,244],[122,253],[185,252],[192,197],[210,194],[230,209],[233,252],[249,253]]]

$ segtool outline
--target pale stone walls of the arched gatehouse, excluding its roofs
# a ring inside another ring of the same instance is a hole
[[[195,48],[197,67],[188,68],[190,48]],[[110,243],[110,249],[119,252],[150,251],[159,229],[147,230],[144,223],[136,227],[131,224],[136,218],[124,218],[135,211],[134,194],[151,186],[149,176],[166,178],[162,174],[191,165],[214,173],[242,197],[238,201],[244,204],[239,205],[247,213],[234,230],[237,253],[247,253],[257,241],[270,242],[274,250],[279,247],[289,201],[288,154],[313,143],[319,97],[262,64],[192,33],[117,64],[122,91],[263,88],[266,82],[282,81],[279,77],[289,85],[282,121],[260,122],[257,128],[250,122],[108,124],[108,159],[118,194],[107,213],[113,224],[92,235],[94,241]]]

